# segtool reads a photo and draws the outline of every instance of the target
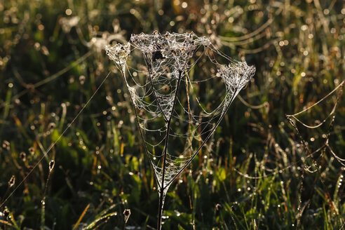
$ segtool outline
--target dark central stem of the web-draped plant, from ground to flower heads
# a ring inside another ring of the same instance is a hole
[[[170,123],[172,119],[172,113],[174,112],[175,109],[175,104],[176,104],[176,99],[177,99],[177,93],[180,87],[180,82],[181,82],[181,76],[182,76],[182,71],[179,71],[179,78],[177,80],[177,86],[176,86],[176,91],[175,91],[175,97],[174,97],[174,102],[172,104],[171,108],[171,115],[169,117],[168,123],[167,123],[167,130],[166,130],[166,135],[165,135],[165,143],[164,143],[164,153],[163,153],[163,172],[162,172],[162,181],[161,181],[161,188],[159,189],[159,206],[158,206],[158,220],[157,220],[157,230],[161,230],[161,225],[162,225],[162,215],[163,215],[163,206],[164,206],[164,201],[163,198],[165,196],[164,190],[166,187],[164,187],[164,176],[165,176],[165,166],[166,166],[166,153],[168,151],[168,140],[169,140],[169,131],[170,131]],[[158,103],[158,101],[157,101]]]

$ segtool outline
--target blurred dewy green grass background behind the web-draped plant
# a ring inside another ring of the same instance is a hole
[[[170,187],[163,229],[344,228],[344,1],[0,0],[0,18],[1,203],[111,72],[0,228],[154,229],[156,182],[104,46],[156,29],[208,36],[257,68]]]

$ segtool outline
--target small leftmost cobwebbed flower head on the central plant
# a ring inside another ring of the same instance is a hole
[[[111,60],[115,62],[116,65],[126,65],[128,56],[130,55],[130,43],[121,44],[117,43],[114,46],[105,46],[105,51]]]

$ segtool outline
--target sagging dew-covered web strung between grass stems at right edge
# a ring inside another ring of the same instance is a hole
[[[273,175],[283,173],[285,170],[296,168],[300,163],[303,165],[303,170],[306,172],[317,172],[316,158],[320,156],[328,155],[330,161],[337,161],[340,165],[345,167],[345,158],[341,156],[342,153],[336,153],[330,144],[330,137],[334,135],[334,122],[337,118],[336,111],[339,109],[339,103],[341,102],[341,95],[343,95],[343,87],[345,81],[341,81],[330,93],[323,96],[317,102],[309,102],[308,106],[305,106],[301,111],[297,111],[295,114],[287,114],[286,118],[292,125],[297,135],[298,142],[292,142],[291,146],[295,146],[295,150],[305,152],[299,161],[285,167],[277,166],[277,168],[269,168],[264,164],[261,167],[267,172],[262,176],[250,176],[243,174],[243,172],[234,168],[234,170],[245,178],[257,180],[264,177],[271,177]],[[330,109],[325,111],[324,107],[328,104]],[[322,112],[321,112],[322,111]],[[318,114],[323,114],[318,118]],[[339,128],[339,127],[338,127]],[[274,142],[275,151],[280,154],[288,155],[289,149],[282,149],[280,145]],[[310,161],[310,165],[307,165],[307,161]]]

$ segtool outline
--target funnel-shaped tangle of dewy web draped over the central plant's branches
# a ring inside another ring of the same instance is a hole
[[[165,195],[172,180],[211,137],[231,102],[255,74],[255,67],[232,60],[212,46],[210,39],[194,33],[133,34],[129,43],[106,50],[123,75],[144,147]],[[138,50],[144,68],[135,65],[134,57],[128,58]],[[191,79],[191,72],[199,73]],[[224,93],[213,100],[217,105],[211,108],[199,97],[218,95],[218,90],[201,93],[201,84],[218,86],[219,81]]]

